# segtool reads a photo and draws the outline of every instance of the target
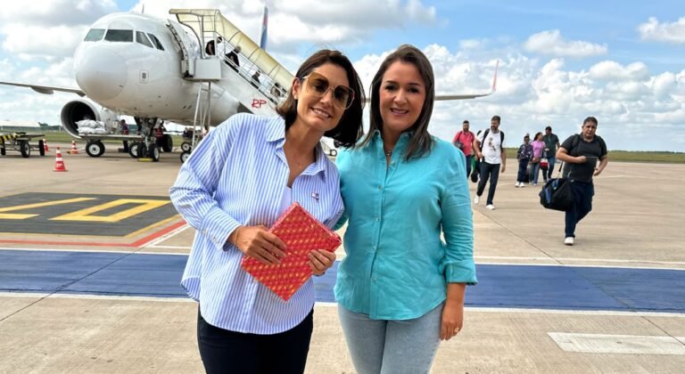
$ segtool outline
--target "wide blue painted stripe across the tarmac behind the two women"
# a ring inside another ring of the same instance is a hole
[[[0,250],[0,291],[186,297],[187,256]],[[314,277],[317,301],[334,302],[337,264]],[[477,265],[467,306],[685,313],[685,271]]]

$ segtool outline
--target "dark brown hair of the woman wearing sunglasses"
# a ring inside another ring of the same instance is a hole
[[[343,147],[351,147],[363,134],[361,117],[364,111],[364,102],[366,102],[366,95],[361,86],[361,79],[357,74],[357,70],[352,67],[351,61],[340,51],[322,49],[317,53],[309,56],[307,61],[302,62],[300,69],[295,74],[296,79],[306,77],[313,69],[326,63],[332,63],[345,70],[347,73],[347,80],[350,82],[350,88],[354,91],[354,100],[350,108],[342,113],[342,118],[338,126],[326,131],[324,136],[333,138],[340,142]],[[287,97],[276,108],[276,112],[285,119],[285,129],[293,126],[295,118],[297,118],[297,100],[293,97],[293,86],[288,90]]]

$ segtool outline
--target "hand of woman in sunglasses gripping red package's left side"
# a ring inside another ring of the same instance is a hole
[[[267,226],[240,226],[231,232],[228,240],[245,256],[250,256],[261,264],[280,264],[285,258],[285,243],[271,232]]]

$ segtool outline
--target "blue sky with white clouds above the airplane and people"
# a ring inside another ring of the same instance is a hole
[[[242,0],[32,0],[0,8],[0,80],[78,88],[73,53],[111,12],[168,18],[170,8],[212,8],[258,40],[263,2]],[[30,8],[30,9],[28,9]],[[680,1],[268,1],[268,52],[294,72],[322,47],[347,54],[368,89],[398,45],[421,49],[436,92],[485,93],[436,102],[429,131],[451,140],[502,118],[509,147],[552,126],[562,141],[598,118],[609,150],[685,151],[685,3]],[[0,86],[0,119],[59,123],[69,93]]]

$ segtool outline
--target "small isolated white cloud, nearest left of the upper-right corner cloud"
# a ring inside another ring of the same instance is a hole
[[[590,57],[607,53],[607,45],[597,45],[582,40],[565,40],[559,30],[547,30],[528,37],[524,49],[557,57]]]

